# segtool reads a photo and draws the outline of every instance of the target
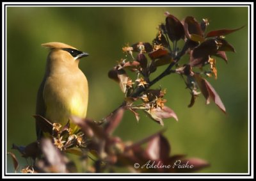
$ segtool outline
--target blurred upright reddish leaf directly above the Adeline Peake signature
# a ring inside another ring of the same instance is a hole
[[[170,155],[171,146],[162,134],[152,139],[147,146],[146,152],[150,156],[150,160],[165,161]]]

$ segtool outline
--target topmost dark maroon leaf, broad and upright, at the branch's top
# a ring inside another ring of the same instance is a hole
[[[170,13],[166,13],[165,26],[167,35],[172,42],[178,41],[181,38],[184,39],[184,28],[181,24],[180,20],[170,15]]]

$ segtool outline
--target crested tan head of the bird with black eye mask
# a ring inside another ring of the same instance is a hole
[[[47,58],[50,68],[78,67],[79,59],[88,56],[86,52],[77,50],[75,47],[60,42],[43,43],[42,47],[47,47],[51,51]]]

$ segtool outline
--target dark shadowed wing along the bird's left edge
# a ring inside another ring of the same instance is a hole
[[[45,116],[45,111],[46,111],[44,97],[43,97],[45,80],[46,78],[44,77],[42,83],[40,84],[40,87],[37,92],[37,97],[36,97],[36,114],[43,117]],[[40,127],[38,126],[37,122],[36,122],[36,136],[38,140],[42,137],[42,130],[40,130]]]

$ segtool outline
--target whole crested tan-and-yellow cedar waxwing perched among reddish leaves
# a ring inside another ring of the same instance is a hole
[[[44,43],[50,49],[45,75],[36,98],[36,114],[52,123],[65,125],[71,115],[86,117],[88,105],[88,83],[79,69],[79,60],[88,56],[70,45],[59,42]],[[70,122],[73,132],[77,126]],[[36,135],[40,139],[42,131],[36,124]]]

